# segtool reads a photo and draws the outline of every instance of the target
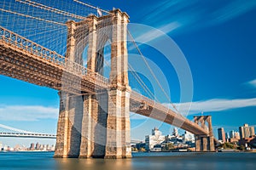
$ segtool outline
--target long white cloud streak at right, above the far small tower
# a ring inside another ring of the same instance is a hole
[[[167,105],[167,104],[164,104]],[[227,111],[232,109],[256,106],[256,98],[253,99],[208,99],[188,102],[177,105],[180,113],[195,114],[203,112]],[[191,107],[190,107],[191,105]],[[190,108],[190,109],[189,109]]]

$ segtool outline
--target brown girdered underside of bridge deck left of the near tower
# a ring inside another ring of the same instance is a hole
[[[95,94],[95,89],[105,87],[97,85],[95,77],[83,78],[61,65],[55,65],[51,59],[39,58],[3,40],[0,40],[0,62],[0,74],[4,76],[72,94],[80,95],[81,91]]]

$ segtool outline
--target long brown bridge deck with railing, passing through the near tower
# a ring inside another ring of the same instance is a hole
[[[0,74],[78,95],[81,91],[95,94],[96,90],[109,87],[108,78],[1,26]],[[190,133],[208,134],[195,122],[136,92],[131,92],[130,103],[131,111],[137,114],[181,127]]]

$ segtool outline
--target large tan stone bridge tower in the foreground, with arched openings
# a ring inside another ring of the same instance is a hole
[[[90,15],[80,22],[67,22],[67,59],[83,64],[87,46],[87,69],[102,75],[104,44],[110,42],[111,71],[108,89],[89,87],[92,93],[80,95],[59,92],[55,157],[131,157],[128,22],[129,16],[119,9],[107,16]],[[76,82],[78,86],[81,83]]]

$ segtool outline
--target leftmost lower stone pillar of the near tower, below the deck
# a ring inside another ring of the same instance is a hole
[[[60,92],[60,114],[57,127],[55,157],[78,157],[81,142],[82,100]]]

